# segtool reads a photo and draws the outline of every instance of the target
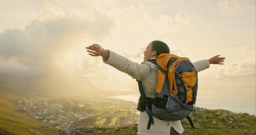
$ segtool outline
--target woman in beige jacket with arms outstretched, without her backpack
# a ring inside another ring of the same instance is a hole
[[[92,44],[88,46],[87,52],[91,56],[102,56],[102,60],[119,71],[127,73],[136,80],[142,82],[142,87],[145,90],[146,97],[154,98],[157,83],[157,69],[156,65],[152,64],[148,59],[156,59],[161,53],[169,53],[169,47],[164,42],[154,40],[149,43],[144,53],[144,62],[138,64],[128,60],[127,58],[118,55],[117,53],[105,50],[98,44]],[[219,55],[212,57],[209,60],[201,60],[194,62],[197,71],[208,69],[210,64],[223,64],[224,57]],[[150,129],[147,129],[147,123],[149,116],[146,111],[141,112],[138,122],[138,134],[182,134],[183,128],[181,121],[165,121],[154,117],[154,123]]]

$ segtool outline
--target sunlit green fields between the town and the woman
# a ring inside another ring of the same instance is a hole
[[[75,123],[75,128],[115,127],[127,125],[129,121],[134,124],[138,120],[136,105],[133,102],[114,99],[87,99],[86,102],[91,105],[91,114],[94,115]]]

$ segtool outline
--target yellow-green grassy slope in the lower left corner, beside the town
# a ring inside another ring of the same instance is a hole
[[[19,107],[7,99],[24,99],[25,96],[15,95],[0,88],[0,128],[14,134],[59,134],[57,128],[44,124],[37,119],[16,113]]]

